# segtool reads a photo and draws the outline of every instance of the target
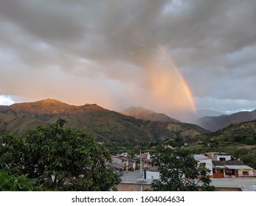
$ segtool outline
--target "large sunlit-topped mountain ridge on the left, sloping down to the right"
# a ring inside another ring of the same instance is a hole
[[[97,104],[69,105],[55,99],[0,106],[0,134],[14,132],[26,135],[28,130],[65,118],[65,127],[94,135],[106,146],[122,148],[145,146],[165,138],[193,138],[208,132],[194,124],[181,122],[142,121],[107,110]]]

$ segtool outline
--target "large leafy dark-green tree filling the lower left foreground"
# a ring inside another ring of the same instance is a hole
[[[58,119],[49,127],[37,127],[24,138],[0,138],[0,170],[27,174],[48,191],[110,191],[120,182],[106,167],[108,150],[94,138]]]

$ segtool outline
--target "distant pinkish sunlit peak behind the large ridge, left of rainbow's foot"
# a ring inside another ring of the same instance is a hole
[[[164,113],[156,113],[153,110],[148,110],[143,107],[129,107],[128,109],[123,110],[122,114],[142,119],[144,121],[180,122],[175,118],[170,118]]]

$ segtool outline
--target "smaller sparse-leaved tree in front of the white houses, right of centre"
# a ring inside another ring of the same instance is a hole
[[[159,180],[153,180],[153,191],[214,191],[209,170],[196,162],[192,154],[174,141],[156,147],[153,165],[159,168]]]

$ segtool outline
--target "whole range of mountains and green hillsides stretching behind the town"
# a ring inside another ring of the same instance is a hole
[[[256,168],[256,120],[252,120],[255,110],[231,116],[203,117],[199,120],[204,124],[198,126],[142,107],[130,107],[119,113],[97,104],[75,106],[44,99],[0,106],[0,135],[12,132],[22,137],[31,129],[46,126],[59,118],[67,121],[65,127],[94,136],[112,154],[124,151],[135,154],[141,149],[150,151],[157,143],[174,139],[194,154],[229,152]],[[221,129],[210,131],[213,127],[207,125],[218,125]]]

